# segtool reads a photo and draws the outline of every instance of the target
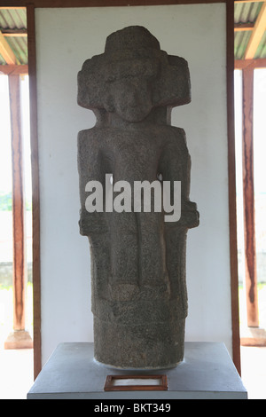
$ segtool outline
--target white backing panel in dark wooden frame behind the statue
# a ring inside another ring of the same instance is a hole
[[[93,340],[76,137],[94,115],[76,104],[76,75],[107,35],[129,25],[145,26],[162,50],[189,62],[192,103],[172,120],[187,134],[200,210],[200,227],[188,232],[186,340],[222,341],[231,351],[225,4],[36,9],[35,18],[43,363],[59,342]]]

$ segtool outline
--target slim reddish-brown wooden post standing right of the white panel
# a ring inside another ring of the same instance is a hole
[[[259,326],[254,219],[254,67],[243,69],[243,201],[247,326]]]

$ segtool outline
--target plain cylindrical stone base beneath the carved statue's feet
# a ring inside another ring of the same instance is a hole
[[[184,319],[143,325],[94,318],[95,358],[121,369],[161,369],[184,359]]]

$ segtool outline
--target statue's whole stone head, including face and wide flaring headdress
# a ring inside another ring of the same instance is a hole
[[[161,51],[158,40],[139,26],[109,35],[105,52],[87,59],[78,74],[80,106],[105,109],[127,122],[144,120],[153,107],[190,101],[187,62]]]

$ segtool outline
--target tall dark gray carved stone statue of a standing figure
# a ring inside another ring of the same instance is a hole
[[[97,117],[78,136],[80,231],[90,240],[94,354],[106,365],[153,369],[184,358],[186,233],[199,224],[199,213],[189,201],[184,130],[170,126],[170,113],[190,100],[187,62],[161,51],[143,27],[109,35],[105,52],[87,59],[78,74],[78,104]],[[110,209],[106,189],[114,198],[120,181],[131,190],[136,182],[168,182],[172,203],[181,182],[179,220],[166,222],[165,210],[153,208],[155,191],[150,211],[134,210],[133,191],[128,207],[124,201],[124,210]],[[100,209],[89,212],[96,182],[103,197]]]

